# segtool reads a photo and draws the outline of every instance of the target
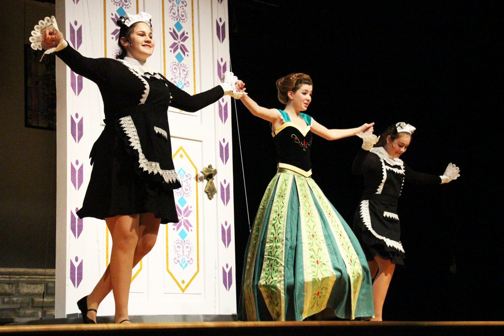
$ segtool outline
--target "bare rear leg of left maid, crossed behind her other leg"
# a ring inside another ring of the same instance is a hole
[[[135,267],[140,262],[140,260],[142,260],[142,258],[154,247],[160,223],[161,219],[154,218],[153,214],[140,214],[139,219],[140,237],[138,239],[138,243],[135,248],[135,254],[133,256],[133,267]],[[109,264],[105,272],[103,273],[103,276],[98,281],[91,294],[88,295],[88,301],[87,301],[88,308],[98,309],[100,303],[103,301],[103,299],[105,299],[105,297],[108,295],[108,293],[110,293],[111,290],[112,290],[112,284],[110,282],[110,264]],[[88,312],[87,316],[93,320],[96,320],[96,313],[94,311]]]

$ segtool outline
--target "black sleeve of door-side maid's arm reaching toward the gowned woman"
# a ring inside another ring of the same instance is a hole
[[[220,85],[213,89],[191,96],[187,92],[179,89],[176,85],[168,81],[170,89],[170,106],[186,112],[196,112],[202,108],[215,103],[224,96],[224,90]]]

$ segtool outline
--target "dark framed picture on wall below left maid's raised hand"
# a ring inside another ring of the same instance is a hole
[[[56,64],[53,55],[41,56],[25,44],[25,127],[55,130]]]

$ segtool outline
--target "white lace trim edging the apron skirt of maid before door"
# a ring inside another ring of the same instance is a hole
[[[149,161],[142,152],[142,146],[140,145],[140,138],[138,137],[137,128],[131,116],[125,116],[119,119],[124,133],[130,138],[130,145],[138,152],[138,163],[140,168],[147,171],[149,174],[159,174],[163,177],[166,183],[173,183],[178,180],[178,175],[175,169],[163,170],[159,166],[158,162]]]

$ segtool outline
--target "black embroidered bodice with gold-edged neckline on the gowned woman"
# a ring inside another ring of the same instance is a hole
[[[304,129],[301,129],[290,121],[288,117],[286,118],[284,116],[286,122],[272,132],[279,166],[282,166],[282,164],[294,166],[304,172],[308,172],[311,169],[311,118],[309,118],[309,116],[306,117],[305,121],[307,121],[307,126]]]

